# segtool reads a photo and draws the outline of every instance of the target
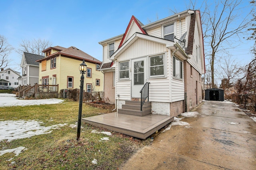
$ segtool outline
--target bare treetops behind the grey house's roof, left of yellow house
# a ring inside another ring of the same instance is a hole
[[[46,41],[45,39],[33,39],[30,40],[22,40],[20,43],[20,48],[16,50],[17,53],[19,53],[21,56],[23,55],[23,52],[26,53],[32,53],[36,55],[44,55],[42,53],[43,50],[49,48],[52,45],[50,41]]]

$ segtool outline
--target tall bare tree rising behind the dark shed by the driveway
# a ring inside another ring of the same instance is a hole
[[[247,21],[249,12],[245,18],[240,15],[241,2],[241,0],[220,0],[220,2],[216,2],[213,11],[208,8],[204,12],[204,42],[208,46],[206,57],[211,65],[213,86],[214,66],[220,60],[220,54],[225,53],[227,49],[235,48],[233,42],[230,41],[231,38],[236,36],[239,41],[239,37],[246,31],[249,23]]]

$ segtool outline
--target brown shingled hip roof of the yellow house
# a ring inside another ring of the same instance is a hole
[[[60,46],[56,46],[56,47],[60,47]],[[50,47],[50,48],[54,48],[54,47]],[[62,47],[62,48],[64,48],[64,47]],[[78,59],[78,60],[84,59],[85,61],[90,62],[90,63],[101,64],[101,61],[99,61],[98,59],[95,59],[94,57],[88,55],[87,53],[84,53],[84,51],[82,51],[76,47],[73,47],[73,46],[64,48],[63,50],[58,51],[57,53],[53,53],[47,57],[44,57],[43,59],[39,59],[39,60],[37,60],[37,62],[50,59],[51,57],[55,57],[56,55],[61,55],[63,57],[69,57],[69,58]]]

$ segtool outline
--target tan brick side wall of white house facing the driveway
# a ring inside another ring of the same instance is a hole
[[[202,102],[202,80],[201,75],[188,62],[184,62],[184,83],[187,93],[187,111],[190,111]],[[192,74],[191,74],[192,71]],[[196,92],[197,82],[197,92]],[[197,95],[196,95],[197,94]],[[185,110],[184,110],[185,111]]]

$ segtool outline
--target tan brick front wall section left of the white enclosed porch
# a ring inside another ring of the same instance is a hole
[[[115,104],[115,87],[113,87],[113,72],[104,72],[104,100]]]

